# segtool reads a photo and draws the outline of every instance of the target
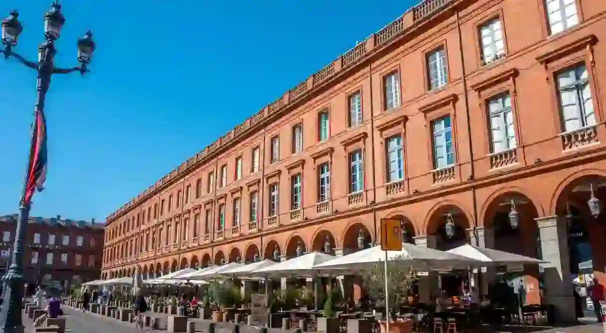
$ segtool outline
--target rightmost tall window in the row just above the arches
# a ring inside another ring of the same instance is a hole
[[[567,68],[558,73],[558,91],[565,132],[596,125],[585,65]]]

